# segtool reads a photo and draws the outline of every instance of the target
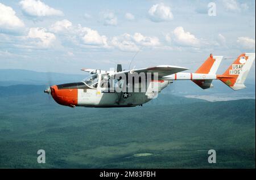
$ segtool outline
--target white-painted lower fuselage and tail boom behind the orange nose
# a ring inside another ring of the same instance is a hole
[[[158,93],[167,87],[173,80],[204,80],[216,79],[212,74],[196,74],[179,72],[177,74],[164,76],[158,80]],[[109,106],[137,106],[142,105],[154,97],[149,97],[147,92],[108,92],[108,88],[97,87],[95,89],[78,89],[77,106],[109,107]]]

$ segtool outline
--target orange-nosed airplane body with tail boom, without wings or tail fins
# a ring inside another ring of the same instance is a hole
[[[177,73],[158,80],[150,80],[147,85],[143,85],[142,81],[134,83],[132,91],[129,89],[129,83],[123,88],[125,91],[117,91],[116,87],[120,84],[114,84],[114,88],[109,88],[111,85],[102,84],[106,79],[106,74],[97,74],[79,83],[53,85],[51,95],[57,103],[71,107],[131,107],[156,98],[158,93],[174,80],[204,80],[204,84],[209,85],[212,79],[216,79],[216,75]]]

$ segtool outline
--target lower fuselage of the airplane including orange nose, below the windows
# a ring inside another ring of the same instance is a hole
[[[169,80],[158,82],[159,92],[167,87]],[[60,105],[84,106],[94,108],[134,107],[142,105],[152,98],[148,98],[147,92],[116,92],[109,88],[90,88],[84,82],[53,85],[51,95]]]

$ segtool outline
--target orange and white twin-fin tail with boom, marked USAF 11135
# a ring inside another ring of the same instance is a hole
[[[212,80],[219,79],[233,90],[246,88],[244,82],[255,60],[255,53],[243,53],[222,75],[216,75],[216,71],[222,61],[222,56],[210,57],[199,67],[195,73],[178,72],[164,76],[160,80],[192,80],[203,89],[213,87]]]

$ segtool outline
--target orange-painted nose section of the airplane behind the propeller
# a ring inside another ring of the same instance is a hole
[[[77,105],[77,88],[73,88],[72,85],[52,85],[51,95],[58,104],[72,108]]]

